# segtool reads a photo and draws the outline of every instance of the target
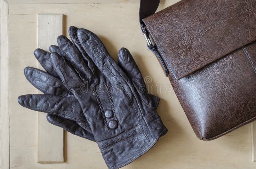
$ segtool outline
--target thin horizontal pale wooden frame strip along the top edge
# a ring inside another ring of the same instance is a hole
[[[6,0],[9,4],[116,4],[140,3],[139,0]],[[176,3],[180,0],[161,0],[160,3]]]

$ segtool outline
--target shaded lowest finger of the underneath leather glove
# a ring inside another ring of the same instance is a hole
[[[46,119],[49,123],[55,126],[59,126],[71,134],[74,134],[76,136],[80,136],[95,142],[95,139],[92,133],[82,128],[76,121],[68,120],[68,119],[54,116],[51,114],[47,114]]]

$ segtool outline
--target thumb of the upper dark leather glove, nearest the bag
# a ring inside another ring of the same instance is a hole
[[[140,69],[134,61],[131,53],[126,48],[121,48],[118,53],[118,64],[132,81],[140,97],[151,107],[157,107],[159,98],[148,94],[147,86],[141,75]]]

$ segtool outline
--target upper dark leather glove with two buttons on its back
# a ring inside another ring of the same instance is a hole
[[[159,98],[140,90],[145,83],[127,49],[119,51],[118,66],[94,33],[70,27],[69,34],[75,45],[59,36],[62,57],[53,52],[52,64],[80,103],[108,168],[120,168],[167,132],[156,112]]]

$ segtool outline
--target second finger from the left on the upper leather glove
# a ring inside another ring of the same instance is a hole
[[[57,39],[58,45],[60,47],[60,52],[65,59],[72,64],[73,68],[77,70],[80,78],[83,79],[87,77],[90,79],[92,77],[92,71],[89,70],[85,60],[80,55],[79,51],[75,45],[65,36],[61,35]]]

